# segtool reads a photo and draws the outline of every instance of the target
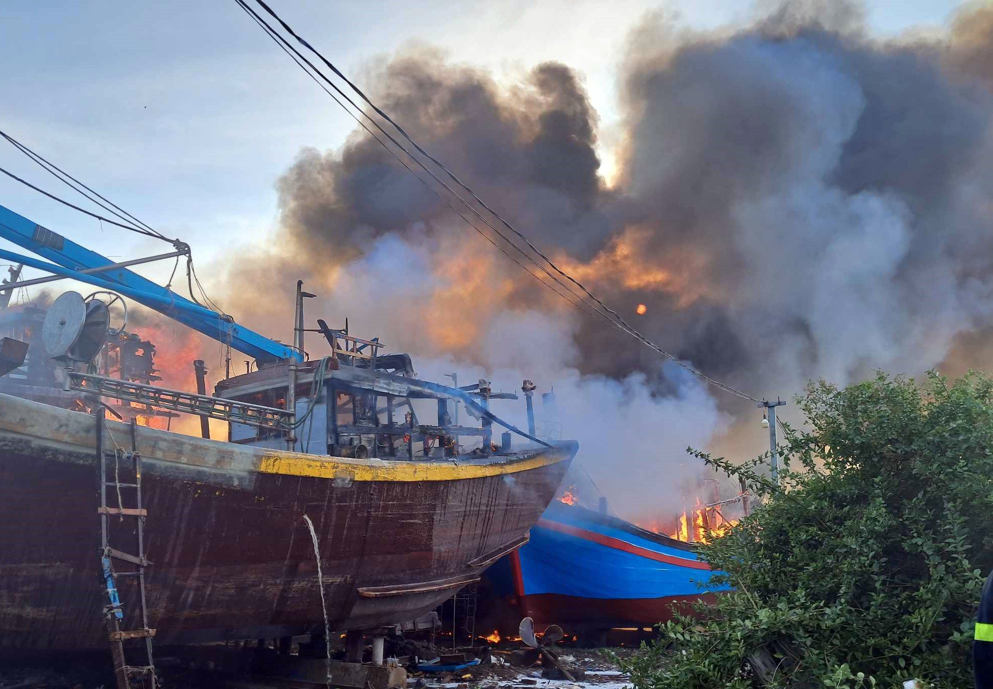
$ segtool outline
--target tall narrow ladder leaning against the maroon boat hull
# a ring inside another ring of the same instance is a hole
[[[100,515],[100,570],[101,579],[106,586],[108,604],[103,608],[103,618],[107,625],[107,640],[110,642],[110,655],[114,663],[114,678],[117,682],[117,689],[156,689],[158,680],[155,676],[155,663],[152,659],[152,637],[155,636],[155,629],[148,626],[148,610],[145,604],[145,568],[152,563],[145,557],[145,517],[148,510],[141,504],[141,454],[138,452],[137,437],[135,432],[134,419],[131,420],[131,450],[120,448],[114,437],[110,434],[110,429],[106,427],[106,410],[101,404],[94,413],[96,417],[96,456],[100,472],[100,506],[96,510]],[[104,449],[104,434],[113,443],[113,451]],[[107,458],[113,460],[113,477],[108,480]],[[121,482],[121,465],[130,465],[124,468],[130,475],[130,482]],[[107,504],[107,488],[114,489],[117,506]],[[121,489],[133,491],[134,506],[125,507],[121,497]],[[135,520],[135,535],[137,554],[117,550],[110,545],[110,518],[116,516],[123,521],[125,518]],[[120,560],[135,566],[135,569],[128,572],[116,572],[113,561]],[[121,604],[118,593],[118,577],[135,577],[137,579],[138,607],[140,609],[140,625],[136,628],[121,629],[124,624],[124,608]],[[129,665],[124,656],[124,641],[129,639],[143,638],[147,663],[143,665]]]

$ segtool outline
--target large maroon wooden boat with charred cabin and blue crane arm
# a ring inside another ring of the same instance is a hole
[[[0,646],[105,648],[107,628],[113,648],[414,619],[527,540],[576,453],[490,411],[515,395],[419,380],[409,356],[323,321],[331,355],[305,360],[300,283],[289,347],[3,207],[0,236],[57,263],[8,258],[114,288],[259,363],[215,396],[82,372],[106,305],[74,293],[53,304],[48,353],[93,413],[0,394]],[[227,421],[228,439],[109,420],[103,399]],[[480,425],[453,423],[455,405]],[[499,443],[494,424],[507,429]]]

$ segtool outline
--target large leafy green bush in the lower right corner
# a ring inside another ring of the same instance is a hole
[[[820,382],[783,428],[780,487],[763,471],[692,452],[744,478],[763,504],[700,547],[735,591],[624,661],[639,689],[758,686],[746,658],[780,653],[770,686],[972,686],[969,657],[993,565],[993,382],[879,375]]]

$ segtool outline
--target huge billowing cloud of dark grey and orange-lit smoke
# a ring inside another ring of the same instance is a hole
[[[885,41],[838,2],[711,33],[646,16],[618,75],[610,179],[568,65],[497,83],[417,48],[360,85],[646,337],[751,395],[790,398],[811,378],[990,362],[990,46],[990,5]],[[300,278],[319,295],[310,324],[349,317],[424,377],[554,387],[562,437],[628,518],[680,508],[702,472],[687,446],[768,449],[754,402],[555,295],[364,131],[340,150],[306,143],[277,183],[278,236],[209,286],[246,325],[288,341]],[[522,418],[522,402],[495,404]]]

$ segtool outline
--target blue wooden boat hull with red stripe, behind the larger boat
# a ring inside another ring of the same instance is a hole
[[[492,589],[539,624],[583,631],[651,626],[727,587],[683,541],[553,500],[531,538],[488,573]]]

